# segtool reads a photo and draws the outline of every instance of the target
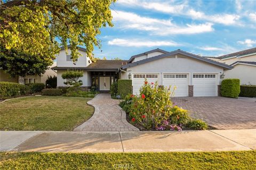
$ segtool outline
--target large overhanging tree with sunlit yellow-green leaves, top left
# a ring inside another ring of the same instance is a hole
[[[0,45],[6,49],[1,52],[14,49],[52,60],[59,46],[67,50],[70,44],[74,62],[80,55],[78,45],[85,45],[87,55],[93,57],[93,46],[101,46],[100,28],[113,26],[109,6],[115,1],[0,0]]]

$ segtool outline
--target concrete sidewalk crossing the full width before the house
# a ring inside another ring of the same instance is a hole
[[[163,152],[252,149],[256,149],[256,129],[182,132],[0,132],[0,151]]]

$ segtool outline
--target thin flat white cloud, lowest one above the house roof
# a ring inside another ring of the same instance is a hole
[[[156,47],[156,46],[178,46],[174,41],[150,41],[141,39],[113,39],[108,41],[109,45],[123,47]]]

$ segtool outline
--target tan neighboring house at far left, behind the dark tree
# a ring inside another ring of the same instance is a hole
[[[24,78],[12,78],[9,74],[5,73],[2,69],[0,69],[0,81],[7,81],[13,83],[21,83],[21,84],[28,84],[28,83],[44,83],[48,77],[57,76],[57,72],[52,70],[51,68],[56,66],[56,62],[53,63],[52,66],[49,67],[48,70],[45,71],[44,74],[40,75],[27,75]]]

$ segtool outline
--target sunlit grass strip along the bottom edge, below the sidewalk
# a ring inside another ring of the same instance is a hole
[[[255,169],[256,151],[70,154],[2,152],[0,169]]]

